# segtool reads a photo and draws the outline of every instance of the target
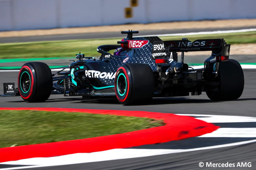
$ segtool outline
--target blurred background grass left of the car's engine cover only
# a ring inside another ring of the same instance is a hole
[[[74,57],[81,52],[85,56],[100,56],[97,47],[117,44],[118,39],[63,40],[0,44],[0,58]]]

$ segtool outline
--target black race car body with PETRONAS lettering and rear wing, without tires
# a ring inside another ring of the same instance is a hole
[[[127,31],[128,36],[118,42],[121,45],[99,46],[100,59],[84,57],[77,54],[78,60],[69,66],[70,71],[60,77],[53,77],[54,91],[83,97],[115,96],[115,74],[117,69],[127,63],[141,63],[150,66],[154,73],[154,97],[200,95],[202,91],[217,90],[219,82],[219,62],[228,60],[230,45],[223,39],[196,40],[190,42],[186,38],[175,41],[162,41],[159,37],[132,37],[135,31]],[[211,42],[211,44],[210,44]],[[125,49],[121,55],[108,51],[118,48]],[[202,69],[189,69],[183,63],[184,52],[212,51]],[[178,62],[176,52],[182,52]],[[224,60],[213,60],[215,57],[226,57]],[[56,75],[54,74],[54,76]]]

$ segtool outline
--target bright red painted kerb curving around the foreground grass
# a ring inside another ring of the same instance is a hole
[[[211,133],[219,128],[194,117],[158,112],[93,110],[72,108],[0,108],[0,110],[39,110],[52,112],[83,112],[120,116],[147,117],[163,120],[165,125],[115,135],[76,139],[54,143],[32,144],[0,148],[0,162],[33,157],[53,157],[75,153],[100,152],[116,148],[130,148],[145,144],[165,143]]]

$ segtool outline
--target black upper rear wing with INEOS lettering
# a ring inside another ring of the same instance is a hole
[[[212,51],[214,56],[229,56],[230,51],[230,44],[226,44],[223,38],[202,39],[193,42],[182,38],[182,40],[163,41],[163,44],[169,52]]]

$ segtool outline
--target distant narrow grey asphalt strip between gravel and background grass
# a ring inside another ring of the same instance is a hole
[[[202,29],[170,29],[170,30],[137,30],[139,34],[143,35],[158,35],[158,34],[175,34],[175,33],[191,33],[191,32],[203,32],[203,31],[226,31],[234,29],[250,29],[251,27],[224,27],[224,28],[202,28]],[[129,26],[127,26],[127,30]],[[125,30],[123,30],[125,31]],[[65,34],[65,35],[43,35],[43,36],[27,36],[27,37],[1,37],[0,43],[11,42],[31,42],[31,41],[51,41],[51,40],[75,40],[75,39],[91,39],[91,38],[113,38],[124,37],[121,32],[101,32],[101,33],[81,33],[81,34]]]

